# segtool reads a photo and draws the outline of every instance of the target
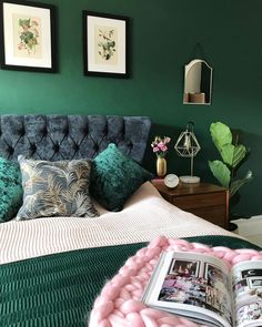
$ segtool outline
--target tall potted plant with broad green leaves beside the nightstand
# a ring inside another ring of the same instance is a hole
[[[239,143],[239,134],[233,135],[230,127],[221,122],[210,125],[210,133],[215,147],[219,150],[221,160],[209,161],[209,166],[219,183],[229,188],[230,204],[240,187],[250,182],[253,177],[252,172],[248,171],[245,176],[238,178],[236,173],[240,165],[249,153],[249,150]],[[231,205],[230,205],[231,206]],[[229,224],[229,229],[234,229],[234,224]]]

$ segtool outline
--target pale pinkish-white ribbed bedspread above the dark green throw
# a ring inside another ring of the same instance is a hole
[[[149,182],[127,202],[122,212],[95,218],[49,217],[0,224],[0,263],[71,249],[149,242],[159,235],[236,236],[169,204]]]

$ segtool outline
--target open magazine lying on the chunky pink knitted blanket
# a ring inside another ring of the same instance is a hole
[[[231,268],[205,254],[164,252],[142,302],[205,326],[262,326],[262,260]]]

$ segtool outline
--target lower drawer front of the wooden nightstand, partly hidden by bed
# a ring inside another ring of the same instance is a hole
[[[224,205],[194,208],[189,210],[189,212],[220,227],[228,228],[228,218]]]

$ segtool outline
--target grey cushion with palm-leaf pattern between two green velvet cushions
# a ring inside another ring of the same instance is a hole
[[[19,155],[23,205],[18,221],[49,216],[98,216],[89,196],[91,161],[34,161]]]

